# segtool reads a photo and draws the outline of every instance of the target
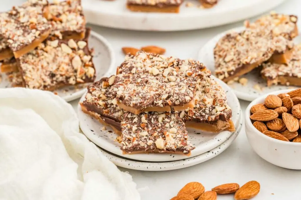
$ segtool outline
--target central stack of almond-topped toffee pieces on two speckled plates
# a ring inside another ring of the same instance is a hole
[[[186,127],[235,130],[225,91],[202,63],[144,51],[90,85],[81,106],[120,135],[125,154],[190,155]]]

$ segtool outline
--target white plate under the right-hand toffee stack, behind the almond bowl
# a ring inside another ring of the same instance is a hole
[[[216,35],[214,38],[209,40],[203,48],[201,48],[198,60],[204,65],[210,69],[214,74],[214,55],[213,55],[213,49],[216,45],[216,43],[219,41],[220,38],[222,38],[226,33],[231,31],[242,31],[244,27],[238,27],[235,29],[231,29],[225,32],[222,32],[218,35]],[[301,37],[298,36],[294,39],[294,42],[296,44],[299,44],[301,42]],[[247,85],[243,86],[238,82],[235,82],[230,85],[230,87],[233,89],[234,93],[237,95],[239,99],[247,100],[247,101],[253,101],[257,97],[260,97],[263,94],[267,94],[273,91],[278,90],[284,90],[284,89],[290,89],[290,88],[296,88],[291,86],[283,86],[283,85],[274,85],[271,87],[267,87],[266,82],[263,78],[260,76],[260,72],[258,69],[253,70],[252,72],[249,72],[242,77],[245,77],[248,79]],[[258,90],[254,88],[254,85],[258,84],[262,90]]]

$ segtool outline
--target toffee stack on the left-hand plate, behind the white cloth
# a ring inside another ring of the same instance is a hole
[[[80,0],[28,0],[0,13],[1,72],[14,87],[53,91],[94,82]]]

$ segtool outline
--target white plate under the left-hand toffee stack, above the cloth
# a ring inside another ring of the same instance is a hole
[[[111,45],[107,40],[96,32],[91,31],[91,35],[88,41],[89,48],[94,48],[95,56],[93,57],[93,63],[96,70],[96,79],[111,73],[115,64],[115,55],[111,48]],[[80,98],[85,92],[86,87],[89,84],[82,84],[78,86],[68,86],[58,89],[54,92],[62,97],[66,101],[72,101]],[[11,84],[8,81],[5,74],[2,74],[2,81],[0,82],[0,88],[10,88]]]

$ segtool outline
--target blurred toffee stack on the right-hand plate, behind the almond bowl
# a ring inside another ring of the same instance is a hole
[[[292,41],[298,35],[297,20],[272,12],[247,21],[242,32],[226,34],[214,48],[217,77],[231,82],[260,67],[268,86],[301,86],[301,47]]]

